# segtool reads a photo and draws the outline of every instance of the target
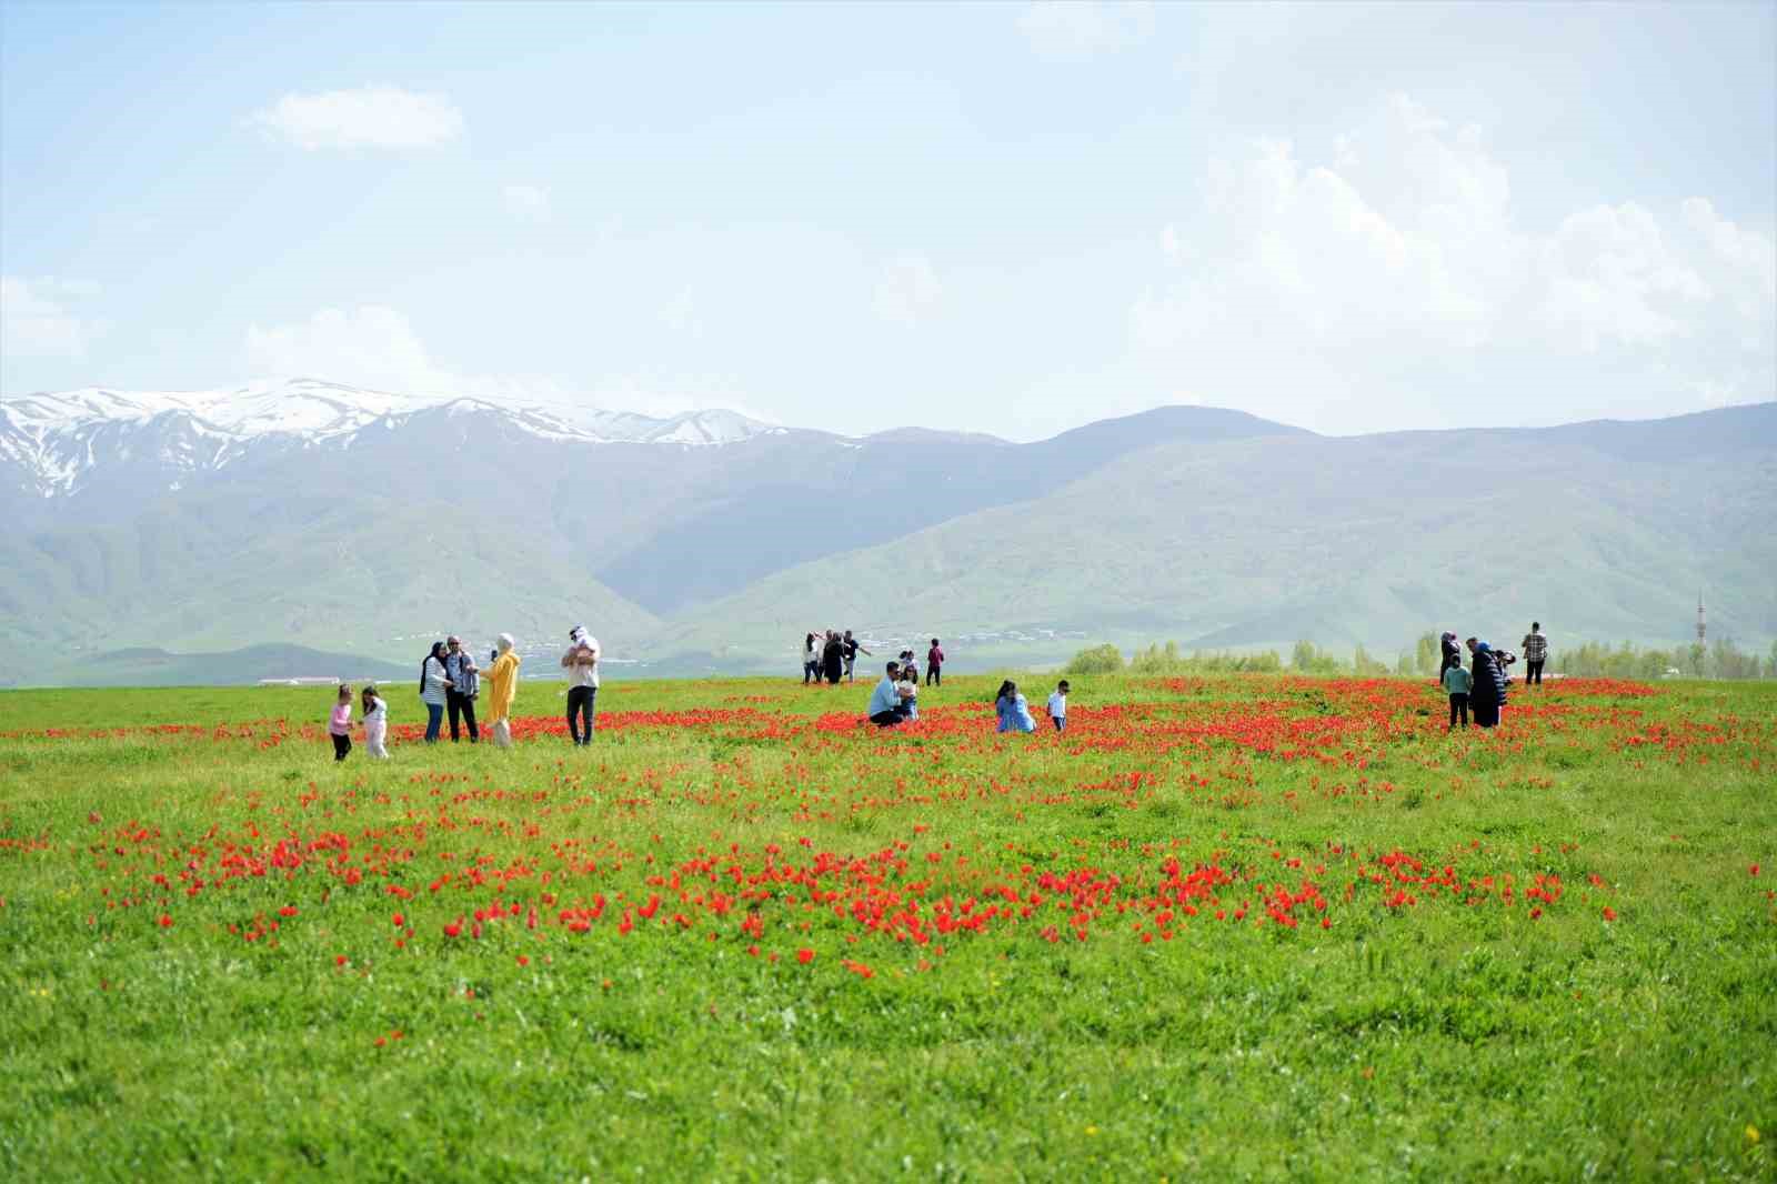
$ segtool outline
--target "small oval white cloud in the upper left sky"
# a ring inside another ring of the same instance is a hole
[[[462,135],[462,112],[442,94],[391,85],[286,94],[247,119],[297,148],[435,148]]]

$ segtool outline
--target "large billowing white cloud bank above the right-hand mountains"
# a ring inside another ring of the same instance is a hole
[[[1182,395],[1336,432],[1534,421],[1551,391],[1777,395],[1768,236],[1704,199],[1534,231],[1484,139],[1395,98],[1327,164],[1287,140],[1212,160],[1162,231],[1171,277],[1130,308],[1137,347]]]

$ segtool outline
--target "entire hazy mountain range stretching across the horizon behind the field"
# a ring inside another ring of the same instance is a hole
[[[832,626],[986,667],[1096,640],[1391,654],[1530,617],[1670,645],[1701,588],[1711,636],[1763,649],[1773,494],[1777,404],[1365,437],[1160,407],[1016,444],[325,382],[75,391],[0,404],[0,645],[405,670],[446,631],[546,654],[585,622],[638,670],[775,670]]]

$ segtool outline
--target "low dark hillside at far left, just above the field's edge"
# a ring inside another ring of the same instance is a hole
[[[259,679],[332,677],[414,681],[419,674],[375,658],[329,654],[304,645],[249,645],[220,654],[171,654],[163,649],[112,649],[66,663],[48,663],[18,679],[20,686],[231,686]]]

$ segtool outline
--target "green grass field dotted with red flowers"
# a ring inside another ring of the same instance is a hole
[[[1777,1179],[1777,684],[952,683],[0,695],[0,1175]]]

